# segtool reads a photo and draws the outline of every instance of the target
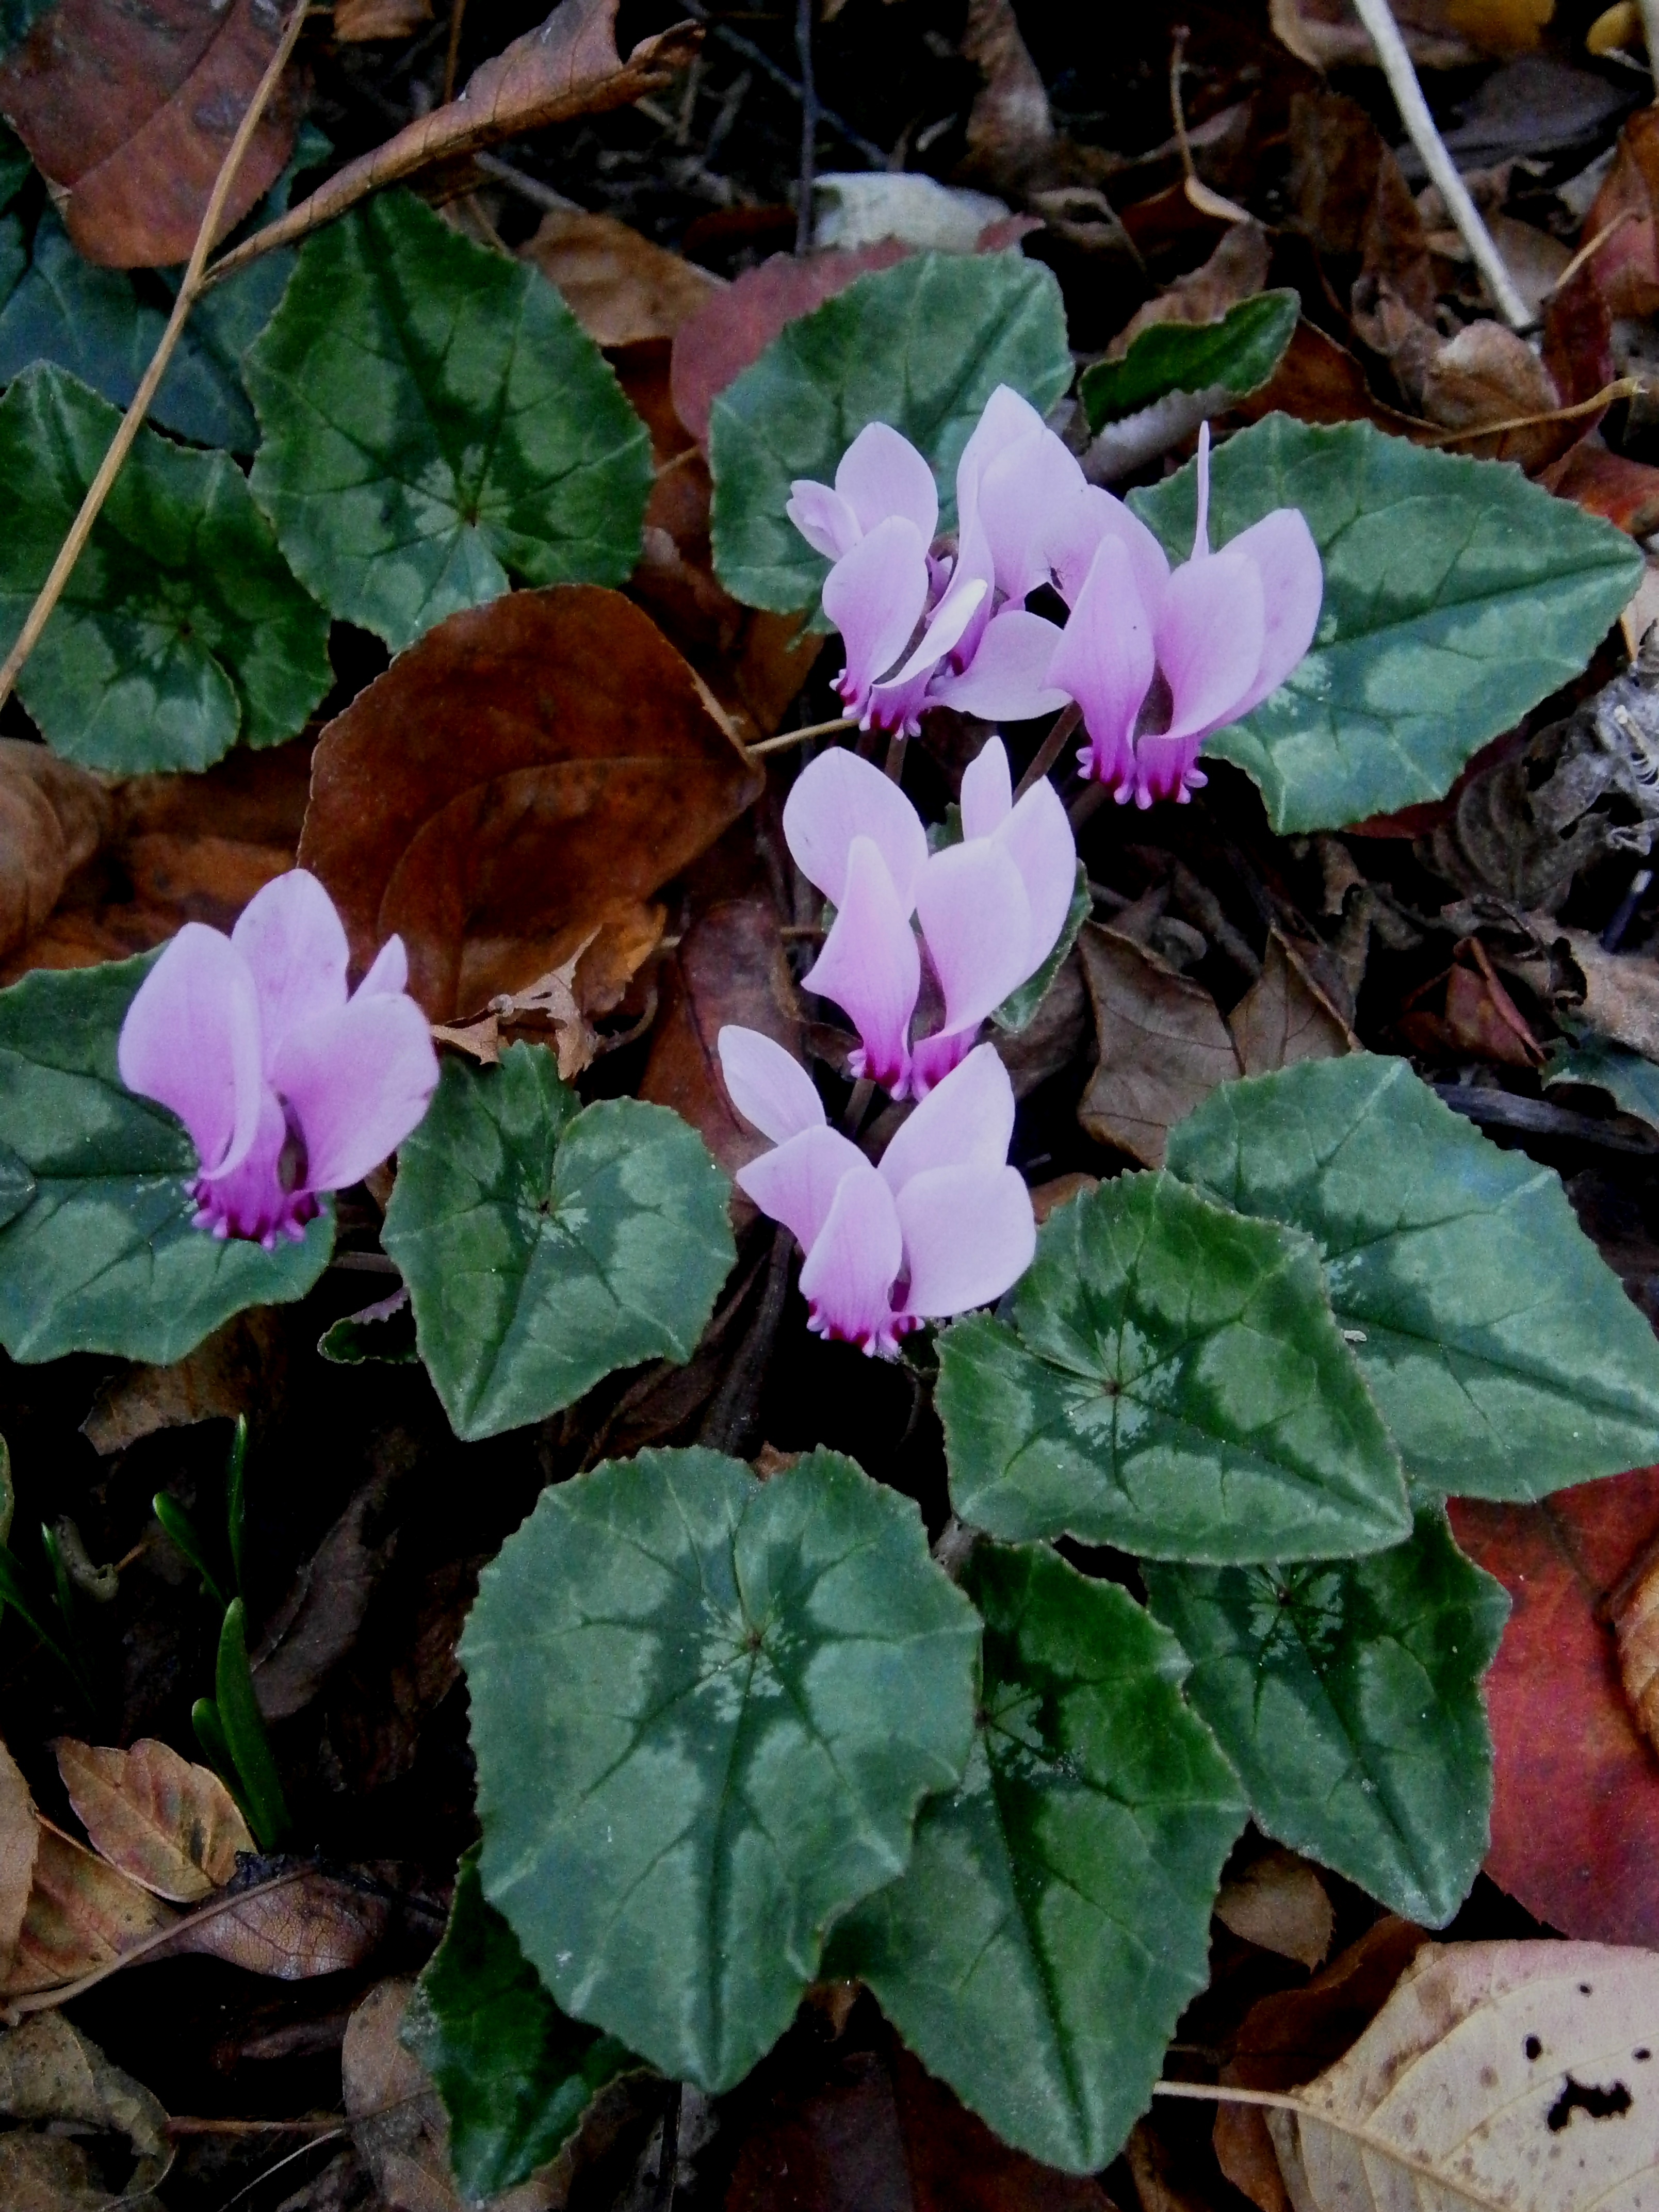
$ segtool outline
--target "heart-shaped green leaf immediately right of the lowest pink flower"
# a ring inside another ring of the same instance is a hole
[[[991,1535],[1232,1562],[1411,1528],[1312,1241],[1172,1175],[1119,1175],[1051,1214],[1013,1325],[940,1338],[938,1409],[956,1511]]]

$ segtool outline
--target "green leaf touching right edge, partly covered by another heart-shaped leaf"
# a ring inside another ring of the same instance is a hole
[[[1307,1230],[1416,1482],[1546,1498],[1659,1458],[1659,1343],[1559,1177],[1489,1144],[1405,1060],[1221,1084],[1168,1161]]]

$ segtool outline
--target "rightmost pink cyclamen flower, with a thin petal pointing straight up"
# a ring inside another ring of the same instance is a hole
[[[1106,502],[1106,504],[1102,504]],[[1170,571],[1157,538],[1099,493],[1095,535],[1057,562],[1071,619],[1048,681],[1084,710],[1082,772],[1119,805],[1186,801],[1206,776],[1199,745],[1276,690],[1314,641],[1325,575],[1294,507],[1210,551],[1210,427],[1199,434],[1199,526],[1192,560]]]

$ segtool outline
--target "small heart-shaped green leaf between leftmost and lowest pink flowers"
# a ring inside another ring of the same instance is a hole
[[[639,1360],[688,1360],[737,1250],[697,1130],[639,1099],[582,1106],[544,1044],[449,1060],[398,1150],[380,1241],[456,1436],[495,1436]]]

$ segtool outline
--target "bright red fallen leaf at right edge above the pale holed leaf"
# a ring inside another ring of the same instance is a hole
[[[1619,1681],[1608,1595],[1659,1537],[1659,1467],[1535,1506],[1451,1502],[1513,1610],[1486,1677],[1486,1871],[1564,1936],[1659,1944],[1659,1763]]]

